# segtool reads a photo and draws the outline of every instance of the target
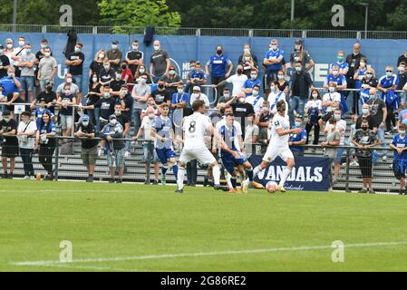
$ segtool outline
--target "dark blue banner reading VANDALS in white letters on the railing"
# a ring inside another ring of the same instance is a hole
[[[249,159],[250,163],[256,167],[262,157],[253,155]],[[269,181],[280,181],[286,163],[281,159],[276,159],[271,165],[260,172],[257,182],[266,187]],[[329,177],[331,176],[330,160],[327,158],[296,158],[296,168],[286,181],[287,190],[305,191],[328,191],[330,188]]]

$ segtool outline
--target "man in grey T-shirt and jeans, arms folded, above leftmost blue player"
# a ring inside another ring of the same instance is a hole
[[[140,68],[139,68],[140,69]],[[146,109],[147,98],[151,94],[151,88],[147,84],[147,75],[141,75],[138,83],[133,87],[131,97],[133,98],[133,111],[131,120],[134,123],[134,131],[138,132],[141,126],[141,111]]]

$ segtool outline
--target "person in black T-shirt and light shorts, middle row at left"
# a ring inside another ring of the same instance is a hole
[[[76,104],[76,97],[71,91],[71,86],[66,85],[63,93],[58,97],[56,104],[60,107],[61,128],[63,136],[71,136],[73,129],[73,105]]]

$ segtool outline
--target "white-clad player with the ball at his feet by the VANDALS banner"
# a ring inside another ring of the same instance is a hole
[[[286,169],[283,172],[283,176],[281,177],[277,191],[286,192],[286,189],[284,188],[286,179],[288,179],[296,166],[293,152],[290,150],[288,145],[288,140],[290,138],[290,134],[299,134],[302,129],[296,128],[290,130],[290,121],[286,116],[286,102],[278,101],[276,103],[276,109],[277,113],[274,116],[273,121],[270,123],[271,139],[266,151],[266,155],[263,158],[263,162],[257,166],[253,173],[254,178],[256,178],[258,173],[266,169],[270,163],[276,160],[276,157],[279,156],[286,162]]]

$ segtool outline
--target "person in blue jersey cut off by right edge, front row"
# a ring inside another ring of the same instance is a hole
[[[400,195],[407,195],[405,188],[405,170],[407,169],[407,126],[401,124],[399,133],[394,136],[390,148],[394,150],[392,159],[392,170],[396,179],[400,180]]]

